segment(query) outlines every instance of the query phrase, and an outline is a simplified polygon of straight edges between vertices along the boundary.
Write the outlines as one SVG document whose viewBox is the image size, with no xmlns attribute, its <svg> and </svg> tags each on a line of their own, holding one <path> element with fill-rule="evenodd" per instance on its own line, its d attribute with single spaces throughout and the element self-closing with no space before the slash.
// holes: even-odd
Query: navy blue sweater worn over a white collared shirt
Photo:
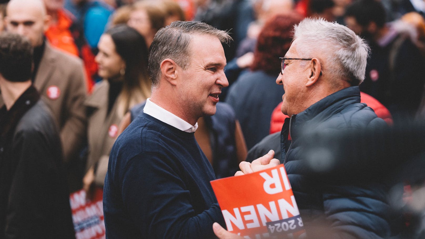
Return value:
<svg viewBox="0 0 425 239">
<path fill-rule="evenodd" d="M 193 133 L 140 114 L 113 145 L 105 178 L 107 238 L 210 238 L 224 219 L 214 172 Z"/>
</svg>

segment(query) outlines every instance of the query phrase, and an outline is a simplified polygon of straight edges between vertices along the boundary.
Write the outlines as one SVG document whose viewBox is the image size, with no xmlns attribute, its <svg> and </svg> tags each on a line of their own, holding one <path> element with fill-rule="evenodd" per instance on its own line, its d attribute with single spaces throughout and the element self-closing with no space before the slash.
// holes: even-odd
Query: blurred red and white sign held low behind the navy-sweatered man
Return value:
<svg viewBox="0 0 425 239">
<path fill-rule="evenodd" d="M 84 190 L 69 197 L 76 239 L 105 239 L 102 196 L 103 190 L 96 188 L 93 201 L 86 197 Z"/>
</svg>

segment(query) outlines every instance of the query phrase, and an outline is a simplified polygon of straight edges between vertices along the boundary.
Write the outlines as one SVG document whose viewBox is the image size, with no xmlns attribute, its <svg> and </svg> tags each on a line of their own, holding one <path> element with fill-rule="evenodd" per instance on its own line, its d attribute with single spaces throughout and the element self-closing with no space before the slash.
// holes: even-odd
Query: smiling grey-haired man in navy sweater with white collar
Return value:
<svg viewBox="0 0 425 239">
<path fill-rule="evenodd" d="M 212 223 L 224 225 L 210 185 L 214 171 L 194 132 L 199 117 L 215 114 L 228 85 L 221 43 L 230 39 L 200 22 L 176 21 L 155 35 L 152 95 L 109 158 L 107 238 L 212 238 Z"/>
</svg>

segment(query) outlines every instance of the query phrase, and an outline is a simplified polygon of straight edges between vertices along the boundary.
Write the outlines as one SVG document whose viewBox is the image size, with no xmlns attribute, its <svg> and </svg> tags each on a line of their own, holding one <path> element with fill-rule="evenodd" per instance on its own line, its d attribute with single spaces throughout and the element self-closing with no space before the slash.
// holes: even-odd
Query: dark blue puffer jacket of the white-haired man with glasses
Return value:
<svg viewBox="0 0 425 239">
<path fill-rule="evenodd" d="M 342 183 L 338 178 L 320 180 L 309 175 L 301 160 L 303 137 L 312 131 L 367 129 L 385 125 L 385 121 L 377 118 L 371 108 L 360 103 L 357 86 L 337 91 L 285 120 L 280 133 L 280 161 L 285 164 L 308 235 L 309 225 L 334 229 L 326 233 L 326 238 L 388 238 L 391 235 L 390 207 L 386 202 L 388 188 L 384 184 L 356 180 Z M 247 161 L 273 149 L 270 148 L 270 139 L 276 139 L 275 134 L 255 145 L 248 153 Z M 320 151 L 317 156 L 323 157 Z"/>
</svg>

